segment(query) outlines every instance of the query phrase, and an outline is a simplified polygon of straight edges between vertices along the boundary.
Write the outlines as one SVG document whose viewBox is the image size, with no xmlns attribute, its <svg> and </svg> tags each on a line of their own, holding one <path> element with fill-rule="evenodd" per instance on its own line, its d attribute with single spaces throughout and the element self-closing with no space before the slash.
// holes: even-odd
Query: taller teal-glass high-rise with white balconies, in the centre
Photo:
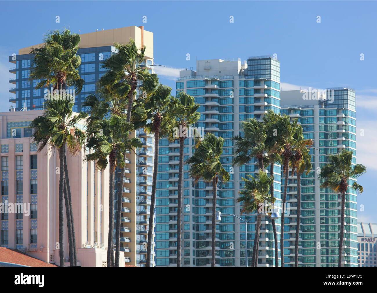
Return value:
<svg viewBox="0 0 377 293">
<path fill-rule="evenodd" d="M 257 162 L 252 160 L 241 167 L 232 166 L 234 147 L 232 137 L 241 134 L 240 122 L 246 118 L 261 119 L 267 110 L 280 113 L 279 61 L 271 56 L 249 57 L 247 62 L 234 60 L 200 60 L 196 71 L 180 71 L 176 79 L 177 93 L 184 91 L 200 104 L 201 118 L 196 127 L 223 137 L 221 163 L 230 173 L 230 181 L 219 182 L 217 209 L 222 213 L 240 215 L 236 202 L 241 177 L 255 174 Z M 200 133 L 201 131 L 199 131 Z M 156 265 L 175 266 L 177 253 L 177 196 L 179 141 L 160 139 L 156 191 Z M 185 140 L 184 160 L 193 155 L 194 138 Z M 210 266 L 212 185 L 199 182 L 193 186 L 189 166 L 184 166 L 182 200 L 182 265 Z M 274 168 L 274 196 L 280 209 L 280 166 Z M 255 215 L 255 214 L 254 214 Z M 250 217 L 250 216 L 249 216 Z M 249 218 L 248 217 L 248 218 Z M 245 265 L 245 245 L 248 239 L 248 263 L 251 264 L 256 217 L 251 218 L 248 231 L 244 222 L 233 216 L 222 216 L 216 224 L 216 265 Z M 280 239 L 280 219 L 276 221 Z M 260 266 L 274 266 L 274 244 L 271 220 L 262 216 L 259 244 Z"/>
</svg>

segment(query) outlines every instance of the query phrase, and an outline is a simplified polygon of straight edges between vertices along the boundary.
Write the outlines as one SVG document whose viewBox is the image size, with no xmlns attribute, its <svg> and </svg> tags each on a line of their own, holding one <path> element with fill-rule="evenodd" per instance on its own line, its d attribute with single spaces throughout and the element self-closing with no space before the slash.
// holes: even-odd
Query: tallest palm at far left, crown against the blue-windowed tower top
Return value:
<svg viewBox="0 0 377 293">
<path fill-rule="evenodd" d="M 78 73 L 78 67 L 81 65 L 81 58 L 77 55 L 81 37 L 79 34 L 71 34 L 68 29 L 52 31 L 44 38 L 44 45 L 40 48 L 33 48 L 31 54 L 34 54 L 33 66 L 30 72 L 30 80 L 40 79 L 36 89 L 44 86 L 53 86 L 53 89 L 66 90 L 67 86 L 72 86 L 76 93 L 80 93 L 84 80 Z M 63 97 L 67 98 L 67 96 Z M 74 99 L 75 97 L 70 97 Z M 66 159 L 64 159 L 66 162 Z M 67 168 L 66 163 L 64 167 Z M 66 202 L 69 203 L 69 214 L 67 214 L 67 225 L 72 227 L 68 233 L 72 238 L 74 247 L 74 265 L 77 266 L 76 239 L 74 231 L 74 218 L 70 198 L 70 186 L 68 173 L 64 176 L 64 184 L 67 189 L 64 192 Z M 71 260 L 70 260 L 71 261 Z M 71 264 L 72 265 L 72 264 Z"/>
</svg>

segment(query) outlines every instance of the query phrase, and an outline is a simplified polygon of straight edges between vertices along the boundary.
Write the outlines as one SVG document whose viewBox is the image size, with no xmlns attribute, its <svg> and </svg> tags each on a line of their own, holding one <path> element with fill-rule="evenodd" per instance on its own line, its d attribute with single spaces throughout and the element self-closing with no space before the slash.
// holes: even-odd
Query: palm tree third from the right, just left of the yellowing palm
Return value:
<svg viewBox="0 0 377 293">
<path fill-rule="evenodd" d="M 285 217 L 285 203 L 287 201 L 287 188 L 288 188 L 288 174 L 289 174 L 289 160 L 292 157 L 292 144 L 294 143 L 294 134 L 296 133 L 297 119 L 290 122 L 290 117 L 284 115 L 271 126 L 276 129 L 277 133 L 277 153 L 282 154 L 283 160 L 283 173 L 284 191 L 282 198 L 282 215 L 280 224 L 280 259 L 281 266 L 284 267 L 284 217 Z"/>
</svg>

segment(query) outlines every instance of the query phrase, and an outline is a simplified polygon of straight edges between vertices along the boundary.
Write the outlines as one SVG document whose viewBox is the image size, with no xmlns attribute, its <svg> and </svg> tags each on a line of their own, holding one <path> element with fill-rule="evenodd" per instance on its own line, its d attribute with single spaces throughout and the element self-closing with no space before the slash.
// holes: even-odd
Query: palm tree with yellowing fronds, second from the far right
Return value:
<svg viewBox="0 0 377 293">
<path fill-rule="evenodd" d="M 297 218 L 296 218 L 296 239 L 294 241 L 294 266 L 298 267 L 299 263 L 299 234 L 300 234 L 300 216 L 301 216 L 301 175 L 307 170 L 311 170 L 311 155 L 309 149 L 313 145 L 313 140 L 305 139 L 302 134 L 302 126 L 297 125 L 294 134 L 293 156 L 291 159 L 292 176 L 296 171 L 297 177 Z"/>
</svg>

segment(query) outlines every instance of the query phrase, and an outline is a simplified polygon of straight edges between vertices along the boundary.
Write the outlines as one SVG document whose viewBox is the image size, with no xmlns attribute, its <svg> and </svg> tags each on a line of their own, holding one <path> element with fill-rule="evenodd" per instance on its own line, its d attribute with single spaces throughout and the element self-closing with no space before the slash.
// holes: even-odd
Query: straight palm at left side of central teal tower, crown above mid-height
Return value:
<svg viewBox="0 0 377 293">
<path fill-rule="evenodd" d="M 172 99 L 170 108 L 172 109 L 172 119 L 168 120 L 171 131 L 169 140 L 179 139 L 179 174 L 178 174 L 178 209 L 177 209 L 177 267 L 181 266 L 181 221 L 182 221 L 182 190 L 183 190 L 183 149 L 185 139 L 189 137 L 189 128 L 199 120 L 200 113 L 196 112 L 199 104 L 195 99 L 181 92 L 177 98 Z"/>
</svg>

